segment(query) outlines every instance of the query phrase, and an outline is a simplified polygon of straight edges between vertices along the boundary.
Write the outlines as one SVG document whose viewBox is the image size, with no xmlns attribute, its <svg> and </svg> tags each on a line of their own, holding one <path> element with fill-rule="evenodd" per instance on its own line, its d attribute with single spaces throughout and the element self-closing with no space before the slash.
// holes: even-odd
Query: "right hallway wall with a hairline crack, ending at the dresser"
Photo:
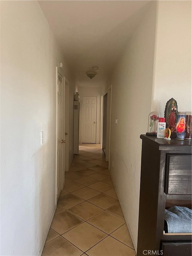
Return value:
<svg viewBox="0 0 192 256">
<path fill-rule="evenodd" d="M 110 173 L 135 249 L 140 194 L 140 134 L 146 133 L 151 109 L 155 19 L 156 3 L 152 1 L 128 42 L 111 80 Z M 118 124 L 115 124 L 116 118 Z"/>
</svg>

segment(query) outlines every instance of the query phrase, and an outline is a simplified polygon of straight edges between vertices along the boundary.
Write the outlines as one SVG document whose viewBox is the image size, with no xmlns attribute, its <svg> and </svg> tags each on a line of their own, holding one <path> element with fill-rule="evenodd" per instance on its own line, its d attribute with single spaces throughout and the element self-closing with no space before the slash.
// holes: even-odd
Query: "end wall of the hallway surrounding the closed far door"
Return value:
<svg viewBox="0 0 192 256">
<path fill-rule="evenodd" d="M 100 143 L 101 132 L 101 87 L 82 87 L 78 86 L 80 96 L 80 111 L 79 111 L 79 143 L 81 143 L 81 107 L 82 95 L 97 96 L 97 126 L 96 126 L 96 143 Z"/>
</svg>

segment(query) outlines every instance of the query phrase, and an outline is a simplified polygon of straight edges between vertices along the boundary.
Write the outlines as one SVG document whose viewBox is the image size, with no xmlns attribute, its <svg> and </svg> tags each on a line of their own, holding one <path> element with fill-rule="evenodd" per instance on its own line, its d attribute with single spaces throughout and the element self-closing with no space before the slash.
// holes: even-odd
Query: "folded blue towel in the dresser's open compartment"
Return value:
<svg viewBox="0 0 192 256">
<path fill-rule="evenodd" d="M 173 206 L 165 210 L 168 233 L 192 233 L 192 210 L 187 207 Z"/>
</svg>

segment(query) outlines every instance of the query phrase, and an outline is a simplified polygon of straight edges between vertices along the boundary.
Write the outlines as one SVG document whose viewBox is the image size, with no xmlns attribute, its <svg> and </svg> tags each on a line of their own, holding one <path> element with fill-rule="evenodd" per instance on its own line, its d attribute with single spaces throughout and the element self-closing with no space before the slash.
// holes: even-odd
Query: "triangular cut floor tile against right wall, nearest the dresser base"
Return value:
<svg viewBox="0 0 192 256">
<path fill-rule="evenodd" d="M 117 230 L 115 230 L 113 233 L 111 233 L 110 236 L 113 236 L 120 242 L 122 242 L 134 249 L 133 243 L 131 241 L 131 236 L 130 236 L 130 233 L 129 233 L 126 223 L 124 225 L 122 225 L 121 227 L 119 227 Z"/>
</svg>

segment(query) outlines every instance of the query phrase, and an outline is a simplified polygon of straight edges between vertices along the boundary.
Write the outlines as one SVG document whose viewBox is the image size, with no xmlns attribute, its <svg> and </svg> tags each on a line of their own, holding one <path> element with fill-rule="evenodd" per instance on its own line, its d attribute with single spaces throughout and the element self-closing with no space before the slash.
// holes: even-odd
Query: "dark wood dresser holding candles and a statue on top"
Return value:
<svg viewBox="0 0 192 256">
<path fill-rule="evenodd" d="M 191 256 L 191 233 L 164 233 L 165 209 L 174 205 L 191 209 L 191 140 L 140 138 L 137 256 Z"/>
</svg>

